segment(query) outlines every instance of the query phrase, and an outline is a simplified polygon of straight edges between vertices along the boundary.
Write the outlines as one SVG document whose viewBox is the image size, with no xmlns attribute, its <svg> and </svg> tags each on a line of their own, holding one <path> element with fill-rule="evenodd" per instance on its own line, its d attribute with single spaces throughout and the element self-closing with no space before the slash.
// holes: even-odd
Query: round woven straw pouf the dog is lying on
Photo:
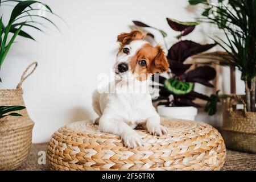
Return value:
<svg viewBox="0 0 256 182">
<path fill-rule="evenodd" d="M 203 122 L 164 119 L 163 137 L 137 130 L 142 146 L 127 148 L 117 135 L 100 133 L 92 121 L 61 127 L 49 141 L 52 170 L 220 170 L 226 148 L 220 133 Z"/>
</svg>

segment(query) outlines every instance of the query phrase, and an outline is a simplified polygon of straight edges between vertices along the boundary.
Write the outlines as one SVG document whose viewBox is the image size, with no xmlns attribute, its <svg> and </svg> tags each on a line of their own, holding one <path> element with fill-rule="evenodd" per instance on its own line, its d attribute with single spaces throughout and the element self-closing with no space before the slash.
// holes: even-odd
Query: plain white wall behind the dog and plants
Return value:
<svg viewBox="0 0 256 182">
<path fill-rule="evenodd" d="M 46 34 L 28 29 L 36 42 L 18 38 L 2 65 L 1 88 L 15 88 L 24 69 L 38 61 L 38 69 L 23 84 L 24 101 L 35 122 L 33 141 L 47 142 L 59 127 L 82 119 L 96 117 L 91 106 L 91 94 L 99 73 L 109 73 L 115 60 L 117 35 L 129 31 L 131 20 L 141 20 L 162 28 L 174 43 L 174 35 L 166 17 L 194 20 L 197 16 L 187 0 L 43 0 L 59 18 L 52 17 L 61 29 L 53 26 Z M 5 20 L 9 7 L 2 7 Z M 8 16 L 8 17 L 7 17 Z M 50 16 L 47 14 L 47 18 Z M 209 43 L 207 35 L 214 34 L 207 24 L 201 24 L 187 39 Z M 212 49 L 214 51 L 214 49 Z"/>
</svg>

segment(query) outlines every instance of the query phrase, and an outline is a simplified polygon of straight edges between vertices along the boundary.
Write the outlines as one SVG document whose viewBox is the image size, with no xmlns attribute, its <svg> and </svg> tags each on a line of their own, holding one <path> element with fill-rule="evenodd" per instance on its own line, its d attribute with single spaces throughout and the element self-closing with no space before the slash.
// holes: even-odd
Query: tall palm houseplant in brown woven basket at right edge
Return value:
<svg viewBox="0 0 256 182">
<path fill-rule="evenodd" d="M 213 38 L 228 56 L 220 64 L 236 67 L 245 82 L 245 96 L 239 98 L 243 110 L 230 107 L 223 123 L 226 146 L 236 150 L 256 152 L 256 1 L 232 0 L 210 3 L 206 0 L 189 0 L 191 5 L 203 4 L 201 18 L 216 24 L 226 39 Z"/>
</svg>

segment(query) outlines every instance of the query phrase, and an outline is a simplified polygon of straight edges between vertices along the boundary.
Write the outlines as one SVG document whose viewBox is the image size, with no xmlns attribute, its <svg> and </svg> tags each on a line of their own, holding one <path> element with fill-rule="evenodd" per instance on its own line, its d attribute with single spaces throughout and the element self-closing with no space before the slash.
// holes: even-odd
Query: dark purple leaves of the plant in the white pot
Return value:
<svg viewBox="0 0 256 182">
<path fill-rule="evenodd" d="M 180 35 L 177 36 L 177 38 L 188 35 L 195 29 L 195 24 L 191 22 L 188 22 L 186 25 L 184 24 L 184 22 L 179 22 L 177 20 L 173 21 L 168 18 L 167 22 L 173 30 L 181 32 Z M 133 23 L 139 27 L 151 27 L 139 21 L 133 21 Z M 154 35 L 148 35 L 154 38 Z M 207 51 L 214 46 L 216 46 L 216 44 L 201 45 L 191 40 L 180 40 L 179 42 L 174 44 L 168 50 L 167 55 L 167 59 L 171 69 L 170 78 L 180 81 L 197 82 L 205 86 L 213 87 L 213 85 L 210 84 L 209 81 L 213 80 L 213 78 L 216 76 L 216 71 L 212 67 L 203 66 L 188 71 L 192 64 L 184 64 L 184 61 L 188 57 L 196 55 L 197 53 Z M 167 78 L 160 75 L 157 76 L 159 76 L 159 79 L 156 80 L 153 76 L 152 81 L 164 84 L 164 81 Z M 200 105 L 193 102 L 194 100 L 196 100 L 196 98 L 200 98 L 201 100 L 205 101 L 211 100 L 210 97 L 201 93 L 197 93 L 193 90 L 187 94 L 173 94 L 173 101 L 169 100 L 170 95 L 171 92 L 164 88 L 164 86 L 159 86 L 159 98 L 156 99 L 157 101 L 160 101 L 158 105 L 201 107 Z"/>
</svg>

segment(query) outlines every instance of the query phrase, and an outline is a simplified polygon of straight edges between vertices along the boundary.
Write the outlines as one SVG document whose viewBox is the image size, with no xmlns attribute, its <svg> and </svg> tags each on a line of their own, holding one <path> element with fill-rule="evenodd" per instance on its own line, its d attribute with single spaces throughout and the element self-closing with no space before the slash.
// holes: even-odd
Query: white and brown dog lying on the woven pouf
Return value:
<svg viewBox="0 0 256 182">
<path fill-rule="evenodd" d="M 117 77 L 113 81 L 114 86 L 109 93 L 93 92 L 92 105 L 99 116 L 96 121 L 100 131 L 121 136 L 129 148 L 142 146 L 142 139 L 134 129 L 146 129 L 158 136 L 167 134 L 166 127 L 160 125 L 160 116 L 152 105 L 150 93 L 138 93 L 132 89 L 127 93 L 118 92 L 123 88 L 129 90 L 147 86 L 148 75 L 168 70 L 169 64 L 162 47 L 152 46 L 144 40 L 145 36 L 141 30 L 118 35 L 120 47 L 113 67 Z"/>
</svg>

